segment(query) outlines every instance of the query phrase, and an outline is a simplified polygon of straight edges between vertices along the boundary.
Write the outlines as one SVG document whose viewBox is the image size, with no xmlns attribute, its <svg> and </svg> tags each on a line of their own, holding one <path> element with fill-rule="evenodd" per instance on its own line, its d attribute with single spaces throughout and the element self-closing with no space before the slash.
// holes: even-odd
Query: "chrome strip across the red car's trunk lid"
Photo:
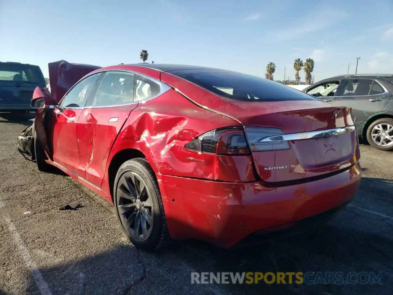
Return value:
<svg viewBox="0 0 393 295">
<path fill-rule="evenodd" d="M 292 134 L 274 135 L 261 139 L 259 142 L 277 142 L 277 141 L 288 141 L 288 140 L 303 140 L 318 137 L 328 137 L 334 135 L 340 135 L 355 131 L 354 125 L 348 127 L 339 127 L 334 129 L 320 130 L 320 131 L 309 131 Z"/>
</svg>

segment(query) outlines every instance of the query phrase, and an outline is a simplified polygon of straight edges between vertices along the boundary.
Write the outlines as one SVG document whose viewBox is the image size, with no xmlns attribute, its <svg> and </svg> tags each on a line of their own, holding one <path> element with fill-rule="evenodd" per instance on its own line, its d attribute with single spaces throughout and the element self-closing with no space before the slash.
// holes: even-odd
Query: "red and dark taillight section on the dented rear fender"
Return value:
<svg viewBox="0 0 393 295">
<path fill-rule="evenodd" d="M 188 144 L 187 149 L 219 155 L 246 155 L 250 153 L 242 129 L 216 129 L 206 132 Z"/>
</svg>

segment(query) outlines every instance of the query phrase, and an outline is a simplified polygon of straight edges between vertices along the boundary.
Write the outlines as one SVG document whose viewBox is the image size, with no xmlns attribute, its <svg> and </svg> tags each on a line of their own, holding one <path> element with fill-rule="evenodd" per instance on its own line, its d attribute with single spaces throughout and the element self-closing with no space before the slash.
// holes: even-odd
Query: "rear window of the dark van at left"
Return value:
<svg viewBox="0 0 393 295">
<path fill-rule="evenodd" d="M 0 63 L 0 81 L 25 81 L 42 83 L 42 76 L 39 66 L 25 65 L 18 63 Z"/>
</svg>

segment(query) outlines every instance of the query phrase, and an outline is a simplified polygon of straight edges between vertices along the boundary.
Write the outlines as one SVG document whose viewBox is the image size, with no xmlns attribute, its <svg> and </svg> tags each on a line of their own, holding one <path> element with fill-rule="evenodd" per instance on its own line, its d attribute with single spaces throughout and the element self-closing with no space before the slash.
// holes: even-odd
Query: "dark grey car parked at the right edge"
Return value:
<svg viewBox="0 0 393 295">
<path fill-rule="evenodd" d="M 393 75 L 342 75 L 303 92 L 337 107 L 351 107 L 358 135 L 380 150 L 393 150 Z"/>
</svg>

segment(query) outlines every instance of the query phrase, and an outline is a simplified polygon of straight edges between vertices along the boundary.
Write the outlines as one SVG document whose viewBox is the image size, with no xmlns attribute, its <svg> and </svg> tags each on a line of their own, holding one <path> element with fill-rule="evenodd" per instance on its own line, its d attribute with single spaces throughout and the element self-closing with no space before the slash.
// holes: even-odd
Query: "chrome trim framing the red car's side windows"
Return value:
<svg viewBox="0 0 393 295">
<path fill-rule="evenodd" d="M 171 89 L 171 87 L 169 87 L 169 85 L 163 83 L 162 81 L 160 81 L 160 80 L 158 80 L 158 79 L 156 79 L 156 78 L 153 78 L 153 77 L 151 77 L 151 76 L 147 76 L 147 75 L 145 75 L 145 74 L 140 74 L 140 73 L 138 73 L 138 72 L 134 72 L 134 71 L 131 71 L 131 70 L 125 70 L 125 69 L 118 69 L 118 70 L 116 70 L 116 69 L 110 69 L 110 70 L 102 70 L 102 71 L 100 71 L 100 72 L 95 72 L 94 74 L 98 74 L 98 73 L 102 73 L 102 72 L 128 72 L 128 73 L 131 73 L 131 74 L 139 75 L 139 76 L 141 76 L 141 77 L 144 77 L 144 78 L 146 78 L 146 79 L 149 79 L 150 81 L 152 81 L 152 82 L 158 84 L 158 85 L 160 86 L 160 92 L 159 92 L 157 95 L 154 95 L 154 96 L 145 98 L 145 99 L 143 99 L 143 100 L 132 101 L 132 102 L 129 102 L 129 103 L 121 103 L 121 104 L 116 104 L 116 105 L 97 105 L 97 106 L 87 105 L 86 107 L 83 106 L 83 107 L 61 107 L 61 108 L 62 108 L 62 109 L 97 109 L 97 108 L 103 108 L 103 107 L 107 108 L 107 107 L 121 107 L 121 106 L 124 106 L 124 105 L 134 105 L 134 104 L 137 104 L 137 103 L 145 103 L 146 101 L 153 100 L 154 98 L 156 98 L 156 97 L 158 97 L 158 96 L 164 94 L 165 92 L 167 92 L 168 90 Z M 94 75 L 94 74 L 92 73 L 92 75 Z M 91 75 L 89 75 L 89 76 L 91 76 Z M 87 77 L 89 77 L 89 76 L 87 76 Z M 86 79 L 87 77 L 85 77 L 85 79 Z M 74 86 L 75 86 L 75 85 L 74 85 Z M 73 88 L 73 87 L 72 87 L 72 88 Z M 71 89 L 70 89 L 70 90 L 71 90 Z M 70 90 L 68 90 L 68 91 L 70 91 Z M 68 94 L 68 92 L 67 92 L 64 96 L 66 96 L 67 94 Z M 64 97 L 63 97 L 63 98 L 64 98 Z"/>
</svg>

